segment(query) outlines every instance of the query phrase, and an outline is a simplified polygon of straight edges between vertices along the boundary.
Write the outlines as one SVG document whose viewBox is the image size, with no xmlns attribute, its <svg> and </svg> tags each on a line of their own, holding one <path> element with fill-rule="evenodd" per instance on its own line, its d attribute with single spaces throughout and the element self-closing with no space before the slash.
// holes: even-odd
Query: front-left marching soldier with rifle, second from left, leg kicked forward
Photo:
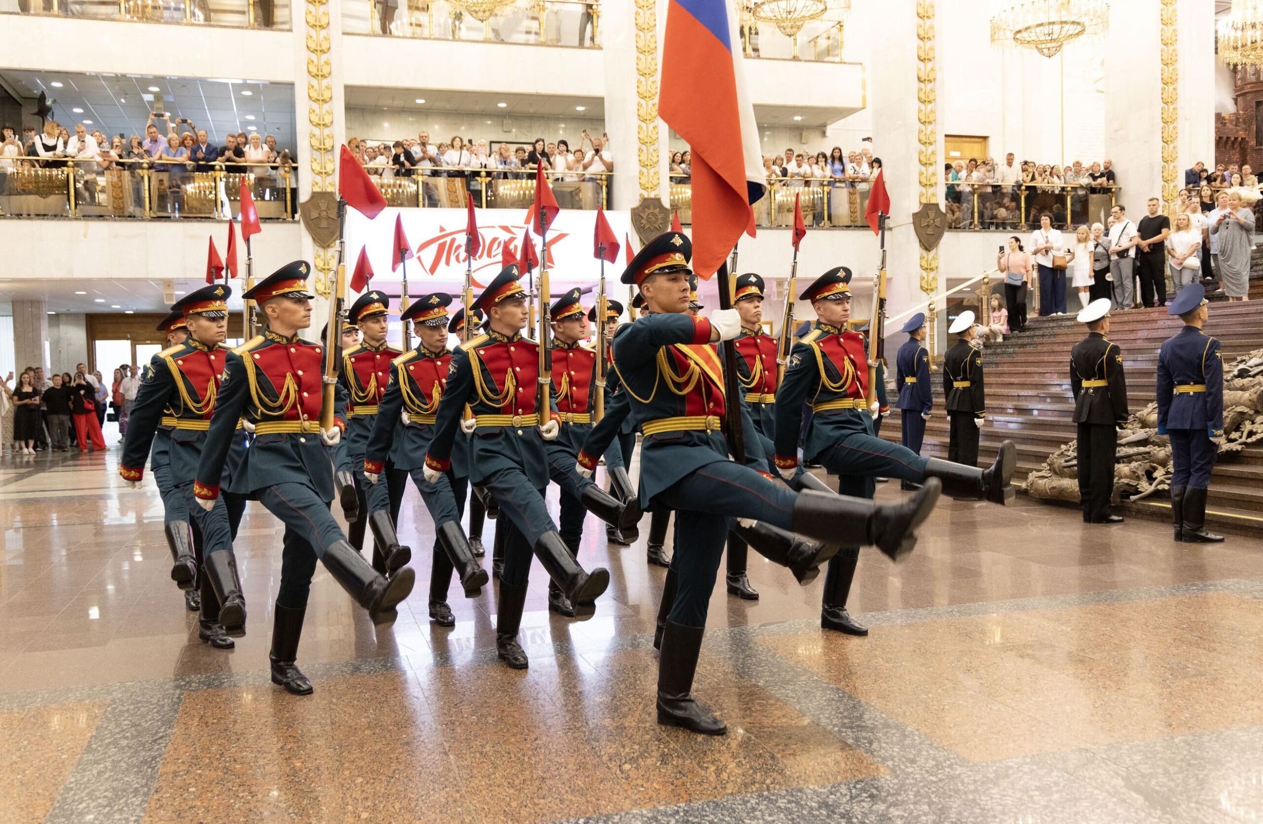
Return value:
<svg viewBox="0 0 1263 824">
<path fill-rule="evenodd" d="M 272 682 L 296 695 L 312 691 L 294 662 L 317 560 L 374 622 L 393 619 L 395 604 L 408 597 L 414 581 L 407 566 L 389 580 L 374 570 L 347 543 L 330 512 L 333 473 L 325 449 L 341 441 L 344 404 L 335 403 L 335 426 L 322 431 L 325 346 L 298 336 L 311 326 L 309 272 L 311 264 L 296 260 L 244 294 L 258 305 L 264 330 L 227 353 L 193 484 L 202 508 L 215 506 L 232 431 L 245 416 L 254 426 L 254 441 L 226 489 L 260 500 L 285 524 L 269 657 Z"/>
</svg>

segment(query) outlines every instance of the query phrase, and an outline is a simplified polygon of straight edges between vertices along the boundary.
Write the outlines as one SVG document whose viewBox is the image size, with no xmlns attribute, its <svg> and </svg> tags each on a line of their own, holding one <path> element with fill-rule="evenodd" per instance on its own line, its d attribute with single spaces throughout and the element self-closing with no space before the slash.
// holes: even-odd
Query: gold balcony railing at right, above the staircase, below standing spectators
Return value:
<svg viewBox="0 0 1263 824">
<path fill-rule="evenodd" d="M 1122 191 L 1119 186 L 1087 183 L 966 183 L 946 185 L 949 229 L 1026 230 L 1052 216 L 1058 229 L 1105 225 Z"/>
</svg>

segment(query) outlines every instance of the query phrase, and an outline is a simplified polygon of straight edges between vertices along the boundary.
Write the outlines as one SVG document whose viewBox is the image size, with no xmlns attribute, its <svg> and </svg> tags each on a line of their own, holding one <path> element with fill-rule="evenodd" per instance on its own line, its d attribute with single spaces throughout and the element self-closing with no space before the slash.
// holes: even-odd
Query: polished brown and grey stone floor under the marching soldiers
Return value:
<svg viewBox="0 0 1263 824">
<path fill-rule="evenodd" d="M 248 509 L 249 634 L 212 651 L 168 579 L 157 490 L 116 468 L 116 449 L 0 461 L 0 824 L 1263 816 L 1257 540 L 945 500 L 908 562 L 863 556 L 868 638 L 818 628 L 820 581 L 751 561 L 760 600 L 711 602 L 695 693 L 730 733 L 701 738 L 654 723 L 643 537 L 608 548 L 589 519 L 582 561 L 613 579 L 590 621 L 551 615 L 534 567 L 514 672 L 490 588 L 453 591 L 455 628 L 428 622 L 409 490 L 417 589 L 375 629 L 320 570 L 316 693 L 294 698 L 266 670 L 277 522 Z"/>
</svg>

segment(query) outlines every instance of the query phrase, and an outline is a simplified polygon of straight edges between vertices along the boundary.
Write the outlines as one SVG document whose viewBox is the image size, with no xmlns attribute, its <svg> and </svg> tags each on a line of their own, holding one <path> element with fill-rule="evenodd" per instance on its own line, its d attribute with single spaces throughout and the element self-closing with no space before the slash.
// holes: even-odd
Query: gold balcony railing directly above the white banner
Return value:
<svg viewBox="0 0 1263 824">
<path fill-rule="evenodd" d="M 609 207 L 613 172 L 546 172 L 562 209 Z M 410 177 L 373 174 L 389 206 L 465 209 L 465 192 L 480 209 L 528 209 L 536 198 L 536 173 L 518 169 L 426 167 Z"/>
</svg>

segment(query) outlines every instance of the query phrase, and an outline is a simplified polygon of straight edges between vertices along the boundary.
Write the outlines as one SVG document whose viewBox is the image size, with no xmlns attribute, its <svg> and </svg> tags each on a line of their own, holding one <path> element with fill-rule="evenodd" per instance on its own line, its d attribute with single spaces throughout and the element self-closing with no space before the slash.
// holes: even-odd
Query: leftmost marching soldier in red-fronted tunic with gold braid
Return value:
<svg viewBox="0 0 1263 824">
<path fill-rule="evenodd" d="M 144 478 L 145 455 L 153 442 L 154 475 L 178 497 L 168 507 L 168 541 L 174 565 L 171 576 L 181 589 L 201 588 L 197 637 L 221 650 L 235 642 L 229 633 L 245 631 L 245 599 L 237 578 L 231 536 L 236 535 L 245 512 L 242 495 L 225 495 L 210 512 L 192 506 L 197 464 L 207 444 L 207 431 L 215 412 L 220 379 L 227 349 L 227 300 L 232 289 L 212 284 L 186 294 L 174 306 L 184 318 L 184 342 L 164 349 L 149 363 L 144 383 L 136 392 L 131 426 L 123 444 L 119 474 L 133 487 Z M 225 433 L 230 454 L 225 476 L 245 456 L 245 436 L 240 423 Z M 160 457 L 159 457 L 160 450 Z M 165 493 L 164 493 L 165 498 Z M 189 523 L 188 513 L 195 518 Z M 192 536 L 192 546 L 189 546 Z M 198 583 L 200 580 L 200 583 Z"/>
</svg>

